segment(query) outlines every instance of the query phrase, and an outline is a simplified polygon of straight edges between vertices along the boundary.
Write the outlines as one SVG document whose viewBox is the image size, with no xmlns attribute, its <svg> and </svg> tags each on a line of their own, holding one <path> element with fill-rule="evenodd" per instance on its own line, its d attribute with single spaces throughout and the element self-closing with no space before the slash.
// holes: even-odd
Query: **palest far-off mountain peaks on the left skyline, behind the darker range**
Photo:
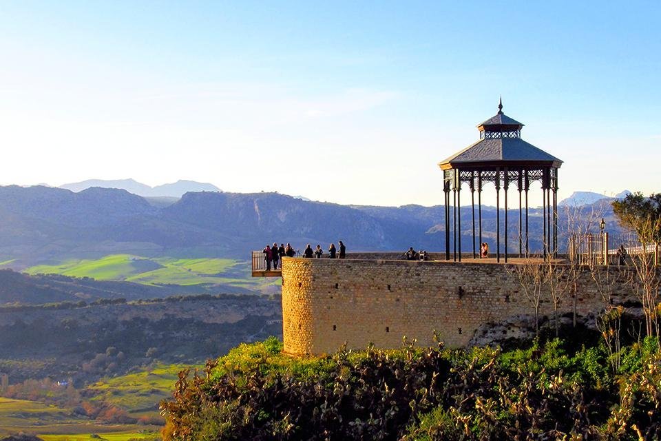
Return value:
<svg viewBox="0 0 661 441">
<path fill-rule="evenodd" d="M 149 185 L 139 183 L 134 179 L 119 179 L 116 181 L 89 179 L 87 181 L 60 185 L 60 188 L 68 189 L 72 192 L 81 192 L 91 187 L 124 189 L 129 193 L 150 198 L 180 198 L 187 192 L 220 192 L 220 189 L 216 187 L 216 185 L 185 180 L 179 180 L 170 184 L 156 185 L 156 187 L 150 187 Z"/>
</svg>

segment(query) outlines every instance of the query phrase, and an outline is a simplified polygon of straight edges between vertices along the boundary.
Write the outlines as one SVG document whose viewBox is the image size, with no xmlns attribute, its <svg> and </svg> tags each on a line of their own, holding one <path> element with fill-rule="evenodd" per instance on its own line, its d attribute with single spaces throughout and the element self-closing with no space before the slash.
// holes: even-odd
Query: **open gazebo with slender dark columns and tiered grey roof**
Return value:
<svg viewBox="0 0 661 441">
<path fill-rule="evenodd" d="M 518 190 L 518 256 L 529 254 L 528 191 L 534 181 L 541 182 L 543 206 L 543 256 L 558 254 L 558 169 L 563 161 L 521 139 L 523 124 L 503 113 L 503 100 L 498 113 L 477 126 L 480 140 L 441 161 L 445 194 L 445 258 L 450 260 L 450 219 L 452 218 L 452 256 L 461 261 L 461 187 L 468 184 L 472 205 L 472 255 L 476 257 L 475 240 L 482 243 L 482 189 L 485 183 L 496 187 L 496 261 L 501 261 L 501 188 L 504 196 L 504 258 L 510 256 L 507 240 L 507 189 Z M 452 192 L 452 216 L 450 216 Z M 476 236 L 475 192 L 478 221 Z M 522 201 L 523 199 L 525 202 Z M 525 224 L 524 214 L 525 213 Z M 478 248 L 479 249 L 479 248 Z"/>
</svg>

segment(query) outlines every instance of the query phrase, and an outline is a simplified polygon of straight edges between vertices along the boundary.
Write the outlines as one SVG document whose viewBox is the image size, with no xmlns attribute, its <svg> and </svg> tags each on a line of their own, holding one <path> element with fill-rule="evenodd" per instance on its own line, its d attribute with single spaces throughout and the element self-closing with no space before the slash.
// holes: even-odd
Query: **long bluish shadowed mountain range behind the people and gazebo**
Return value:
<svg viewBox="0 0 661 441">
<path fill-rule="evenodd" d="M 604 200 L 607 201 L 607 200 Z M 618 227 L 610 204 L 603 216 Z M 539 246 L 541 209 L 530 209 L 532 249 Z M 461 207 L 463 249 L 472 249 L 470 207 Z M 483 240 L 495 245 L 496 209 L 483 207 Z M 501 231 L 503 231 L 501 213 Z M 563 227 L 560 212 L 559 231 Z M 518 241 L 518 210 L 510 211 L 510 244 Z M 114 253 L 248 259 L 267 243 L 344 240 L 349 251 L 438 251 L 445 246 L 442 205 L 375 207 L 305 201 L 277 193 L 188 192 L 154 205 L 125 189 L 0 187 L 0 263 L 22 269 L 48 260 Z M 513 245 L 510 245 L 514 248 Z"/>
</svg>

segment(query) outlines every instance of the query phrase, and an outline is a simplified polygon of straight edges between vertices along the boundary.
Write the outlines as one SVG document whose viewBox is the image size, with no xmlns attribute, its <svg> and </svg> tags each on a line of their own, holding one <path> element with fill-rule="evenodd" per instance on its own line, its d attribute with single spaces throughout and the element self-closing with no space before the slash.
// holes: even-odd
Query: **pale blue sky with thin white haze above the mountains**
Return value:
<svg viewBox="0 0 661 441">
<path fill-rule="evenodd" d="M 4 0 L 0 185 L 438 205 L 437 163 L 502 95 L 565 161 L 560 198 L 660 192 L 660 22 L 658 0 Z"/>
</svg>

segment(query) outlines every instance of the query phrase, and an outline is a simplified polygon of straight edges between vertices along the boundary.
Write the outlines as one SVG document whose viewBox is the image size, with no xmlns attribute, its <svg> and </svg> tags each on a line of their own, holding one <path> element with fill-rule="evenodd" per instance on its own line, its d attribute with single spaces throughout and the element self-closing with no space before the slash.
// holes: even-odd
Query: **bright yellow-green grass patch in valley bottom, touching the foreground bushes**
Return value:
<svg viewBox="0 0 661 441">
<path fill-rule="evenodd" d="M 95 393 L 93 400 L 112 403 L 135 418 L 157 416 L 158 403 L 172 396 L 179 371 L 187 367 L 189 366 L 159 365 L 149 371 L 103 378 L 87 389 Z"/>
</svg>

